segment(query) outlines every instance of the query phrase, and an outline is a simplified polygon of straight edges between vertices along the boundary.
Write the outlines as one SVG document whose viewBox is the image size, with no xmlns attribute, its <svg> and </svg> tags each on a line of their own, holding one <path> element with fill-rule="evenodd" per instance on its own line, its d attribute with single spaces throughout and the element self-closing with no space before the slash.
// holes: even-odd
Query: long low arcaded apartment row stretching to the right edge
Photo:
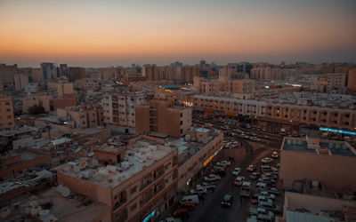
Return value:
<svg viewBox="0 0 356 222">
<path fill-rule="evenodd" d="M 207 95 L 194 95 L 188 97 L 194 109 L 206 113 L 223 113 L 225 115 L 249 115 L 256 120 L 270 122 L 305 123 L 315 126 L 344 129 L 353 131 L 356 128 L 356 112 L 353 107 L 355 99 L 351 97 L 329 97 L 321 95 L 312 103 L 312 99 L 300 99 L 299 94 L 289 94 L 293 97 L 279 99 L 279 102 L 266 102 L 249 99 L 233 99 Z M 298 98 L 298 99 L 295 99 Z M 340 104 L 337 105 L 337 99 Z M 303 103 L 304 101 L 304 103 Z M 330 105 L 331 104 L 331 105 Z M 339 106 L 339 107 L 336 107 Z"/>
</svg>

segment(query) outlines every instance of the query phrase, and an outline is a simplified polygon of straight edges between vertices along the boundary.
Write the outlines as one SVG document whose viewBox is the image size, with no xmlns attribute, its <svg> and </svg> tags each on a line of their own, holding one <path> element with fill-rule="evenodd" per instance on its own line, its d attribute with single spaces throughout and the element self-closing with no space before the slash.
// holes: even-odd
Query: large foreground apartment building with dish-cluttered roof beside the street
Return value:
<svg viewBox="0 0 356 222">
<path fill-rule="evenodd" d="M 140 136 L 126 145 L 120 163 L 105 167 L 93 158 L 77 159 L 59 166 L 57 178 L 71 191 L 109 206 L 110 221 L 141 222 L 173 204 L 178 151 Z"/>
</svg>

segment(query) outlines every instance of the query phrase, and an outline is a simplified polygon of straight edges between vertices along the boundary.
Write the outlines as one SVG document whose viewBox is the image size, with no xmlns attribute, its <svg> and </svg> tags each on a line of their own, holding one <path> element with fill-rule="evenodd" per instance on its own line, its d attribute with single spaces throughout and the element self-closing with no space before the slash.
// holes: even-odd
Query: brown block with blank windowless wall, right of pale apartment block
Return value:
<svg viewBox="0 0 356 222">
<path fill-rule="evenodd" d="M 175 138 L 185 134 L 191 125 L 191 107 L 182 107 L 172 100 L 150 100 L 136 106 L 136 133 L 158 132 Z"/>
</svg>

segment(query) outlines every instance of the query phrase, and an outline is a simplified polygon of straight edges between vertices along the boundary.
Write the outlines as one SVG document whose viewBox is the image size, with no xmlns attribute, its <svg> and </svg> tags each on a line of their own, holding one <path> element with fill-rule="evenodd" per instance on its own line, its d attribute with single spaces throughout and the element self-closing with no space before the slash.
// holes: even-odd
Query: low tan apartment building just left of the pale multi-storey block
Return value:
<svg viewBox="0 0 356 222">
<path fill-rule="evenodd" d="M 57 108 L 57 117 L 73 128 L 91 128 L 103 124 L 102 108 L 98 104 Z"/>
</svg>

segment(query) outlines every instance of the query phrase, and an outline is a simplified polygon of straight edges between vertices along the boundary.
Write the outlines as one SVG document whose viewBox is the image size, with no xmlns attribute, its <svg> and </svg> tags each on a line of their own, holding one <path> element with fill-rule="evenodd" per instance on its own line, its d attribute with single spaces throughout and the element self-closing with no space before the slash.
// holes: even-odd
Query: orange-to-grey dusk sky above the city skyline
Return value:
<svg viewBox="0 0 356 222">
<path fill-rule="evenodd" d="M 0 63 L 356 62 L 355 0 L 0 0 Z"/>
</svg>

